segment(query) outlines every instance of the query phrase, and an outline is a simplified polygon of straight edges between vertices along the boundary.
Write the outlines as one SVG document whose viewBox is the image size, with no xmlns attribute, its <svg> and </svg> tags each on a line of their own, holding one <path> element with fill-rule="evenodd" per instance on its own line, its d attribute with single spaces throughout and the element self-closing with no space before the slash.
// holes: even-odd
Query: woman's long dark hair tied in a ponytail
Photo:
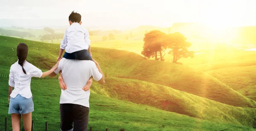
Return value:
<svg viewBox="0 0 256 131">
<path fill-rule="evenodd" d="M 23 63 L 26 61 L 26 57 L 28 56 L 29 48 L 26 44 L 20 43 L 17 46 L 17 56 L 18 56 L 18 63 L 22 67 L 23 72 L 26 74 L 26 70 L 23 68 Z"/>
</svg>

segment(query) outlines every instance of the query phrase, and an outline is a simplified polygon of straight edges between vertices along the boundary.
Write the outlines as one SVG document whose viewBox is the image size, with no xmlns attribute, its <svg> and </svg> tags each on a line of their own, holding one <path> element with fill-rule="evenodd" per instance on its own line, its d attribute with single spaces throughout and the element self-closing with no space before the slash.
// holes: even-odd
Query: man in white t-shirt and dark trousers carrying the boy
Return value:
<svg viewBox="0 0 256 131">
<path fill-rule="evenodd" d="M 91 76 L 99 84 L 105 84 L 99 63 L 95 60 L 62 58 L 58 68 L 49 77 L 56 76 L 60 71 L 62 71 L 62 77 L 67 86 L 66 89 L 61 89 L 61 131 L 87 131 L 90 89 L 82 88 Z"/>
</svg>

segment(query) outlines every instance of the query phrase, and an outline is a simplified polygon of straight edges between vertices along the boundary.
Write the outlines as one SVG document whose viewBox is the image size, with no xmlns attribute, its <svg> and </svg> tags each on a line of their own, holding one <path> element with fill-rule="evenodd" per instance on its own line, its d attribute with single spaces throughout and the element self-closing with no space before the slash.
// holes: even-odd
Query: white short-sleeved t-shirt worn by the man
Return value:
<svg viewBox="0 0 256 131">
<path fill-rule="evenodd" d="M 96 81 L 102 78 L 96 64 L 93 61 L 62 58 L 54 72 L 58 74 L 60 71 L 62 71 L 61 75 L 67 86 L 66 90 L 61 89 L 60 103 L 90 107 L 90 89 L 85 92 L 82 88 L 91 76 Z"/>
</svg>

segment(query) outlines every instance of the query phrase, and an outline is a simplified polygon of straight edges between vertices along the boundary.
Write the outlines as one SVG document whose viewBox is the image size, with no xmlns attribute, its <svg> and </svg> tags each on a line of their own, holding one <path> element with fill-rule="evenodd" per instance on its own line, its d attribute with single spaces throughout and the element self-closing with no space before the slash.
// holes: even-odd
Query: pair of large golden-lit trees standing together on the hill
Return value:
<svg viewBox="0 0 256 131">
<path fill-rule="evenodd" d="M 182 33 L 163 33 L 161 31 L 150 31 L 145 34 L 144 45 L 142 55 L 146 59 L 155 58 L 155 60 L 164 61 L 163 57 L 166 55 L 166 50 L 170 50 L 168 53 L 173 54 L 173 63 L 177 63 L 177 60 L 184 57 L 194 57 L 193 51 L 189 51 L 187 48 L 192 44 L 186 41 L 186 37 Z"/>
</svg>

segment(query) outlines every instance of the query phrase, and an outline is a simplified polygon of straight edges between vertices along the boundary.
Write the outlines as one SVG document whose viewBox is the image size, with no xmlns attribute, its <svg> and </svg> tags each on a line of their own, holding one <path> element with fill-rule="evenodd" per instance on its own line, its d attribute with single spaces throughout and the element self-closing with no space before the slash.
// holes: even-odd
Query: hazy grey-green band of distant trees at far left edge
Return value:
<svg viewBox="0 0 256 131">
<path fill-rule="evenodd" d="M 29 32 L 5 30 L 2 28 L 0 28 L 0 34 L 2 36 L 35 37 L 35 35 L 33 35 L 32 33 L 29 33 Z"/>
</svg>

